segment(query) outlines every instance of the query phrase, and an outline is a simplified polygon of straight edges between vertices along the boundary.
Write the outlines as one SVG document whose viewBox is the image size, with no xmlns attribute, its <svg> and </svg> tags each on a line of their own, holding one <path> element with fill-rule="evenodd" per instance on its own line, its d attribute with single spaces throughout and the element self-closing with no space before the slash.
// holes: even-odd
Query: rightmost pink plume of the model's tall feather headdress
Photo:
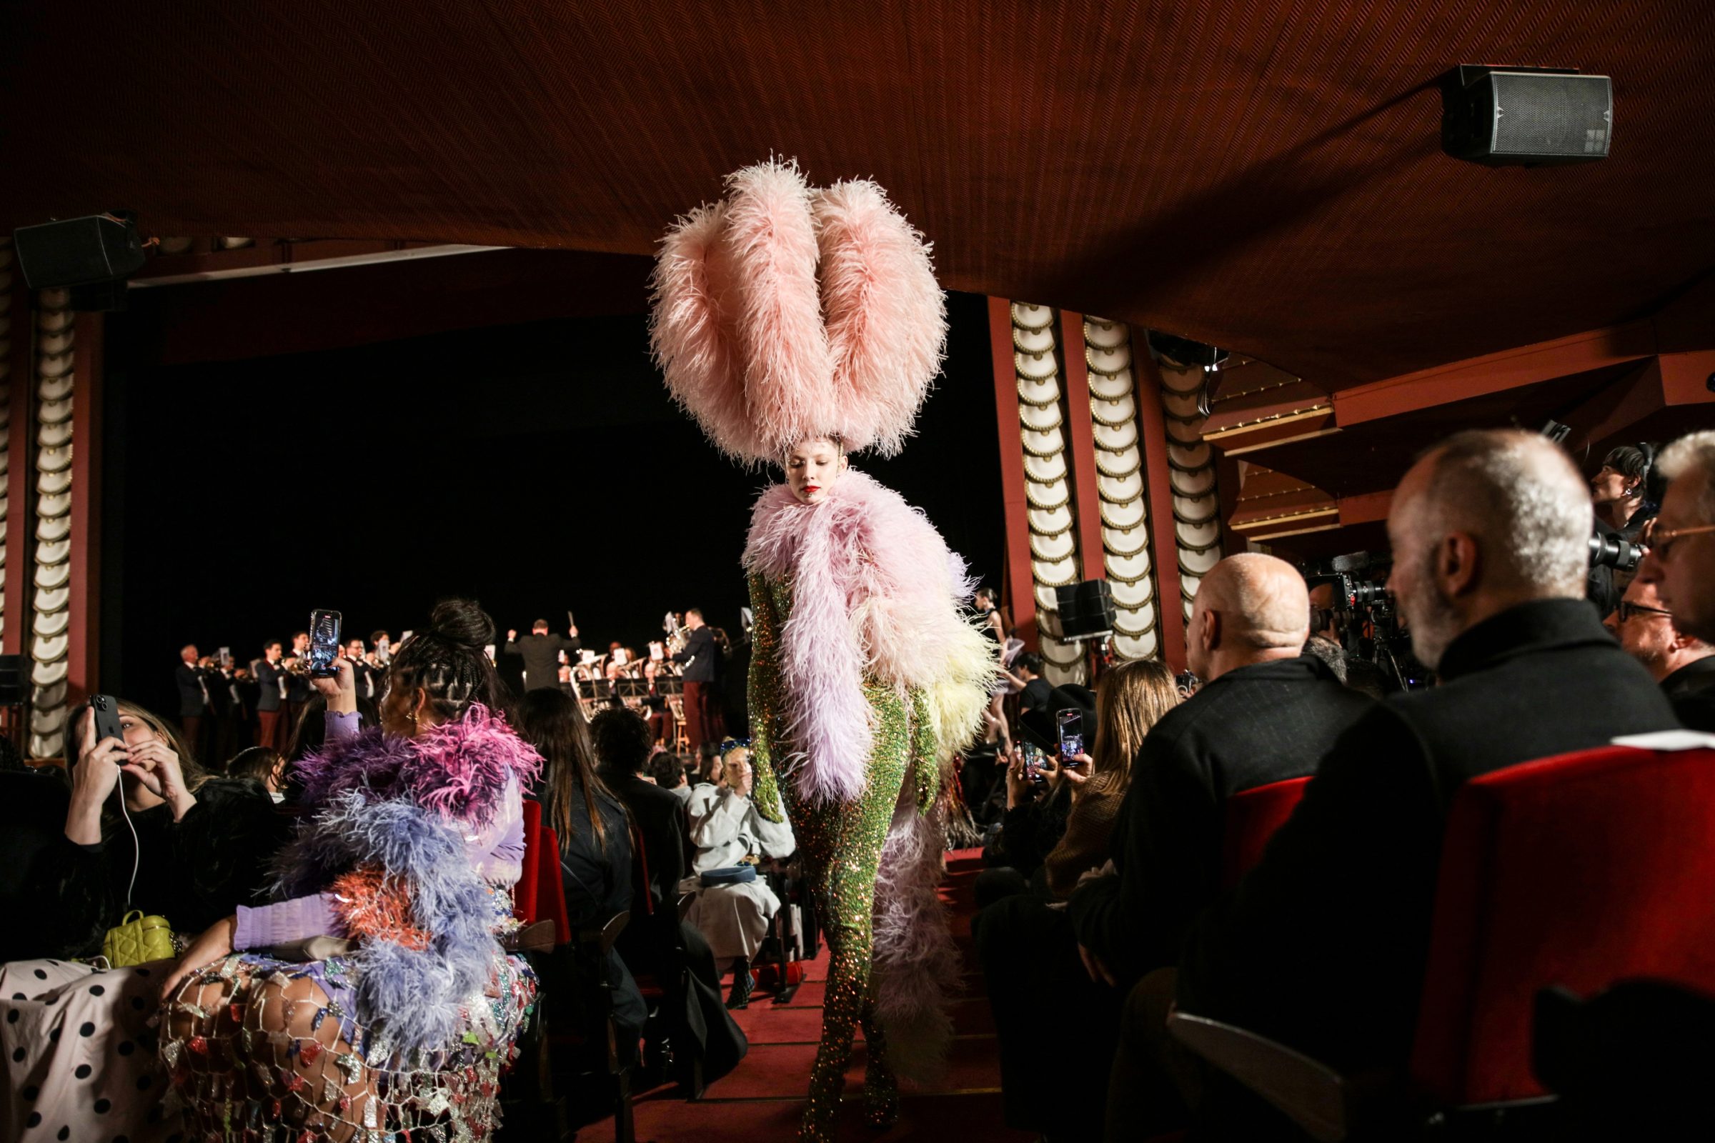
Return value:
<svg viewBox="0 0 1715 1143">
<path fill-rule="evenodd" d="M 849 447 L 894 456 L 912 434 L 947 341 L 930 247 L 868 180 L 818 190 L 813 209 L 835 423 Z"/>
</svg>

